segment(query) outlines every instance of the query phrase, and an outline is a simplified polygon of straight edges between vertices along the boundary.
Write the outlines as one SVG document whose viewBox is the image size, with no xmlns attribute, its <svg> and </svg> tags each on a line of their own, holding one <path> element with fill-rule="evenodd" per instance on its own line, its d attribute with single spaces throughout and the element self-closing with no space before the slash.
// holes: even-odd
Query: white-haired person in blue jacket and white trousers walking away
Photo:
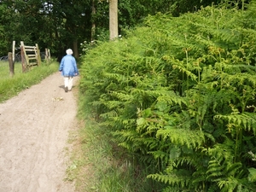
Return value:
<svg viewBox="0 0 256 192">
<path fill-rule="evenodd" d="M 77 62 L 73 57 L 73 50 L 67 49 L 67 55 L 61 59 L 61 64 L 59 72 L 64 77 L 64 87 L 65 92 L 72 90 L 73 87 L 73 77 L 79 75 L 79 70 L 77 67 Z"/>
</svg>

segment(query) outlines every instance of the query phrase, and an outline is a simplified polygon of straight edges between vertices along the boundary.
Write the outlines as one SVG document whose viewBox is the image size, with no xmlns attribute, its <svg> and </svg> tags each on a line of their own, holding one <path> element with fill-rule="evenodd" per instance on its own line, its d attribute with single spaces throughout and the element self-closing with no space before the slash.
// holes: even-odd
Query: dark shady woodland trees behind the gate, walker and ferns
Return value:
<svg viewBox="0 0 256 192">
<path fill-rule="evenodd" d="M 7 55 L 12 42 L 39 44 L 59 59 L 67 48 L 79 57 L 80 44 L 109 38 L 109 3 L 106 0 L 2 0 L 0 1 L 0 56 Z M 157 12 L 178 16 L 202 5 L 221 0 L 119 0 L 119 35 Z"/>
</svg>

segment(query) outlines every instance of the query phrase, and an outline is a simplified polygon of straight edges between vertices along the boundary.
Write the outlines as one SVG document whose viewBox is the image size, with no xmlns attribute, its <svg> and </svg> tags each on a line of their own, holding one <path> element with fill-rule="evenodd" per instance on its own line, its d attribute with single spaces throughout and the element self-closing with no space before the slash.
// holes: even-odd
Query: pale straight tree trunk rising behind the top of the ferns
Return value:
<svg viewBox="0 0 256 192">
<path fill-rule="evenodd" d="M 118 0 L 109 0 L 109 39 L 118 38 Z"/>
</svg>

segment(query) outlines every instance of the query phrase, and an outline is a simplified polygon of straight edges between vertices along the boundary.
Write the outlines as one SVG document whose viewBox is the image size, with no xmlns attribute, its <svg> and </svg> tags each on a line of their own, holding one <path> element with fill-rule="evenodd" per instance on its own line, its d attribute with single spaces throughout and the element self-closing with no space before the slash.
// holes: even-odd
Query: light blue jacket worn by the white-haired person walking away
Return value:
<svg viewBox="0 0 256 192">
<path fill-rule="evenodd" d="M 75 76 L 75 73 L 77 73 L 77 75 L 79 74 L 77 62 L 73 57 L 73 55 L 65 55 L 61 59 L 59 71 L 63 76 L 69 76 L 69 77 Z"/>
</svg>

